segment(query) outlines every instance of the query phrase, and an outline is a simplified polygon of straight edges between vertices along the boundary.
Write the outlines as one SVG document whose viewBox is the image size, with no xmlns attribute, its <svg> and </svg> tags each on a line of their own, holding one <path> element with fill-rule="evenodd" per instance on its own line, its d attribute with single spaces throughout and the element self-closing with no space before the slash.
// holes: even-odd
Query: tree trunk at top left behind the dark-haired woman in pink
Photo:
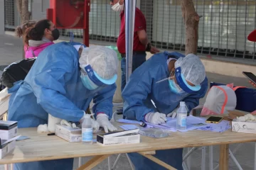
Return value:
<svg viewBox="0 0 256 170">
<path fill-rule="evenodd" d="M 28 0 L 16 0 L 16 6 L 21 18 L 21 23 L 28 21 L 31 18 L 31 13 L 28 11 Z M 23 59 L 25 58 L 24 48 L 22 48 Z"/>
</svg>

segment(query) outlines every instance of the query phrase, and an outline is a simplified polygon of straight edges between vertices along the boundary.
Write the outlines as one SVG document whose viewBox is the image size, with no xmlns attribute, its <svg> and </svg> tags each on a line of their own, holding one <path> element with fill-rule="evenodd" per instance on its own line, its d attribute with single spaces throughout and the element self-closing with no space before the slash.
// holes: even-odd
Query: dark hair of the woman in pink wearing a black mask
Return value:
<svg viewBox="0 0 256 170">
<path fill-rule="evenodd" d="M 50 29 L 50 20 L 38 21 L 34 27 L 26 30 L 24 42 L 28 44 L 28 40 L 42 40 L 46 28 Z"/>
</svg>

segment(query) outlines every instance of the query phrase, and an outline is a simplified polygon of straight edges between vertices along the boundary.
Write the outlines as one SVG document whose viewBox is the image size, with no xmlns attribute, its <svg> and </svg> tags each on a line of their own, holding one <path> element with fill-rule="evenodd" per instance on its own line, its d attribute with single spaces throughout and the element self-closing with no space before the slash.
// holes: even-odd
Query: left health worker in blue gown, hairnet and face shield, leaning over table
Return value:
<svg viewBox="0 0 256 170">
<path fill-rule="evenodd" d="M 18 128 L 47 124 L 48 113 L 55 118 L 82 123 L 93 100 L 94 130 L 99 126 L 105 128 L 105 132 L 116 130 L 109 119 L 117 62 L 117 53 L 107 47 L 85 47 L 75 42 L 50 45 L 38 55 L 26 79 L 9 89 L 8 119 L 18 121 Z M 86 145 L 81 149 L 86 149 Z M 15 164 L 14 169 L 71 170 L 73 159 L 20 163 Z"/>
</svg>

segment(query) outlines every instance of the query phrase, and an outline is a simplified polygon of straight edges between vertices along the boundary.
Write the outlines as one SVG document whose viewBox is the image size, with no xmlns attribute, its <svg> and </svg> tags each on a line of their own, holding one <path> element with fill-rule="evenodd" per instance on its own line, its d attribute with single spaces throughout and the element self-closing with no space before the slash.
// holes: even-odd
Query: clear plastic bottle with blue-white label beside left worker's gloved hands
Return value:
<svg viewBox="0 0 256 170">
<path fill-rule="evenodd" d="M 85 114 L 82 121 L 82 144 L 92 144 L 92 122 L 90 115 Z"/>
</svg>

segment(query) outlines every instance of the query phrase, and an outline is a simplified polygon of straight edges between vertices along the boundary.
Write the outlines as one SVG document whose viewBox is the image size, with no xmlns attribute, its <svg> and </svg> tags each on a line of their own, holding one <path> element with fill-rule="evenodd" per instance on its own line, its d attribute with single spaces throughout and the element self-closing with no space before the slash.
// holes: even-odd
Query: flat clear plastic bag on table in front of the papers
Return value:
<svg viewBox="0 0 256 170">
<path fill-rule="evenodd" d="M 139 134 L 147 137 L 168 137 L 166 130 L 161 128 L 139 128 Z"/>
</svg>

